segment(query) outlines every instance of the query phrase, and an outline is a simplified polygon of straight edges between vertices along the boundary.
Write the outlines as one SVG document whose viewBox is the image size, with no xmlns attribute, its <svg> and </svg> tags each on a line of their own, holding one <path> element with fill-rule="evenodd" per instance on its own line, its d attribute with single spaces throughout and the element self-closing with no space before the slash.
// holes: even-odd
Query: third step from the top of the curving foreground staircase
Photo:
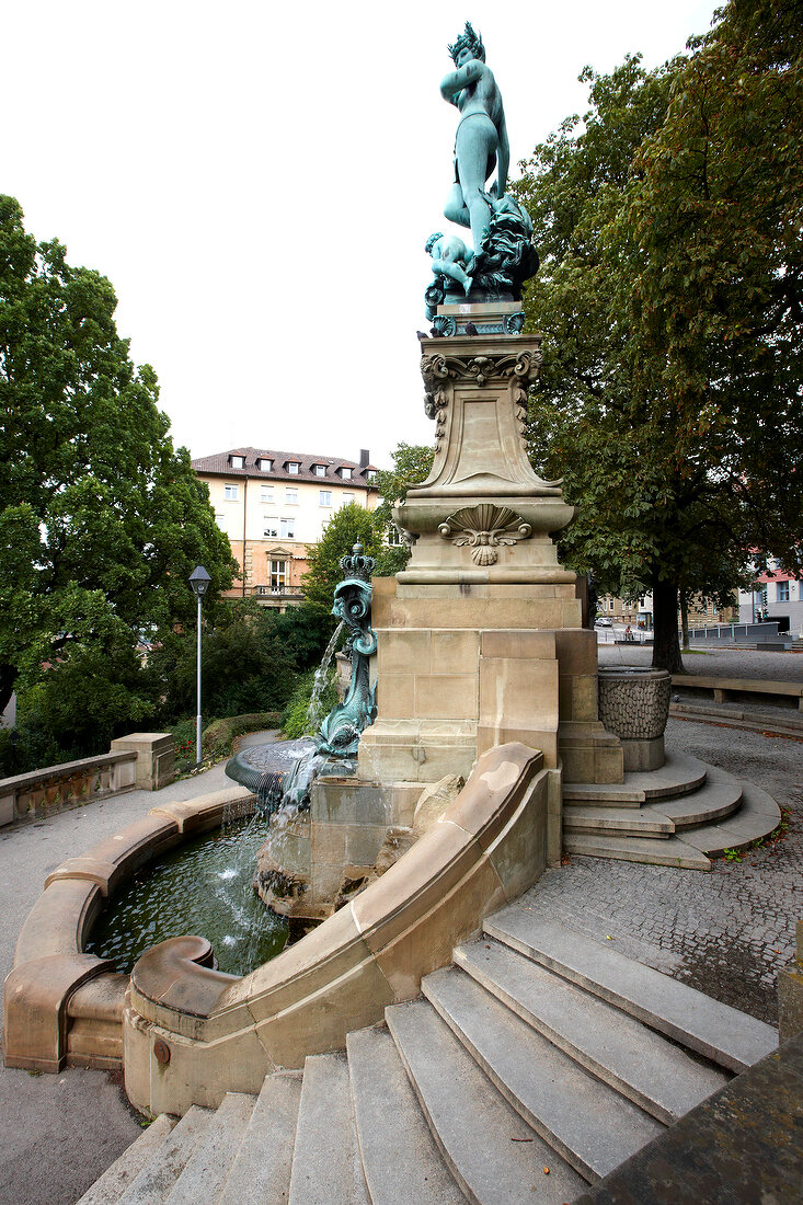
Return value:
<svg viewBox="0 0 803 1205">
<path fill-rule="evenodd" d="M 421 987 L 509 1104 L 586 1180 L 602 1180 L 662 1133 L 458 968 Z"/>
</svg>

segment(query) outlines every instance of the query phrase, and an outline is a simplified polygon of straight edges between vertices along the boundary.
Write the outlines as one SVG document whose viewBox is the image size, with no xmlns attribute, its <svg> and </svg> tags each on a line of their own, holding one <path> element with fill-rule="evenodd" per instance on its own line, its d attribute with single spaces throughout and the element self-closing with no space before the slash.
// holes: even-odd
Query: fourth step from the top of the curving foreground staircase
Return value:
<svg viewBox="0 0 803 1205">
<path fill-rule="evenodd" d="M 511 1109 L 427 1000 L 392 1005 L 385 1016 L 429 1128 L 469 1201 L 563 1205 L 580 1195 L 586 1181 Z"/>
</svg>

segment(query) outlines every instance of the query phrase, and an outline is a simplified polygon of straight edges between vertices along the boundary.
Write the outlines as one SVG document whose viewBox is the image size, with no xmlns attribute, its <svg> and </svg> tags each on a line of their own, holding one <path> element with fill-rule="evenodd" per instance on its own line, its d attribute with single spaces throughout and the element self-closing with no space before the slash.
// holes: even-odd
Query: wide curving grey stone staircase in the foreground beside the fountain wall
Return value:
<svg viewBox="0 0 803 1205">
<path fill-rule="evenodd" d="M 342 1053 L 158 1117 L 80 1205 L 576 1200 L 776 1034 L 520 903 Z"/>
</svg>

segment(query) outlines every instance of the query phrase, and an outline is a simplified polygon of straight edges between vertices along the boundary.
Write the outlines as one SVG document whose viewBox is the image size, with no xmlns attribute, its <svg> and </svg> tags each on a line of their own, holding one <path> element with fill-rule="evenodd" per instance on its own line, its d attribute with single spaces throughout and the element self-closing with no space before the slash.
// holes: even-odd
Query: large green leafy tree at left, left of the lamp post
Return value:
<svg viewBox="0 0 803 1205">
<path fill-rule="evenodd" d="M 37 245 L 0 196 L 0 709 L 36 689 L 65 729 L 88 681 L 112 727 L 143 715 L 137 639 L 194 623 L 198 563 L 209 617 L 235 569 L 116 304 L 105 277 Z"/>
</svg>

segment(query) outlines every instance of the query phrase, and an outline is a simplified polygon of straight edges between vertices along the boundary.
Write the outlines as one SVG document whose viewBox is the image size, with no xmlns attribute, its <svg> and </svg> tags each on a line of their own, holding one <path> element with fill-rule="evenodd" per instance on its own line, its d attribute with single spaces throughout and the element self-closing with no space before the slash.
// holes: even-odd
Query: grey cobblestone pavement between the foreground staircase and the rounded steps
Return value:
<svg viewBox="0 0 803 1205">
<path fill-rule="evenodd" d="M 768 790 L 787 812 L 785 835 L 742 862 L 717 859 L 709 874 L 572 856 L 527 903 L 778 1024 L 775 976 L 803 919 L 803 742 L 670 719 L 667 745 Z"/>
</svg>

